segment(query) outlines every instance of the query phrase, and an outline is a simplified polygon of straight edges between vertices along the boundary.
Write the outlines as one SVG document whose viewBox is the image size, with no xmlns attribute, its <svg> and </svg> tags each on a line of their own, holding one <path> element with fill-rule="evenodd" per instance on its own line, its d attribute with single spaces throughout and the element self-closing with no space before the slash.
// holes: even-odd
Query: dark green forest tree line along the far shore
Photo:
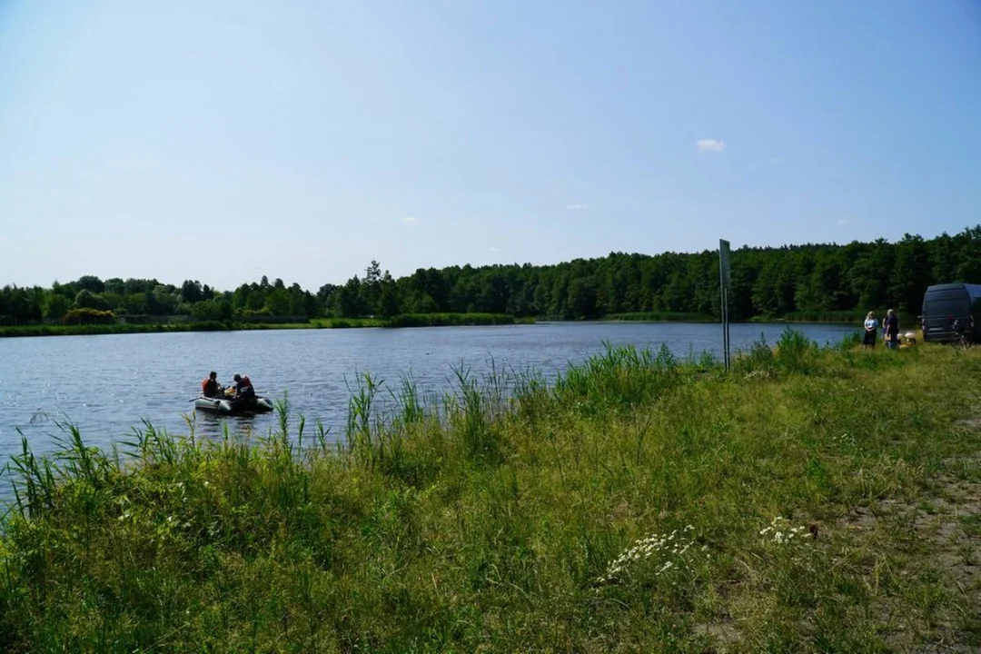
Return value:
<svg viewBox="0 0 981 654">
<path fill-rule="evenodd" d="M 743 247 L 732 252 L 733 320 L 814 317 L 895 308 L 920 313 L 935 283 L 981 282 L 981 226 L 932 239 L 890 243 Z M 718 252 L 611 253 L 557 265 L 451 266 L 391 277 L 372 261 L 364 275 L 315 293 L 282 279 L 217 290 L 196 279 L 79 277 L 50 288 L 0 289 L 0 324 L 72 322 L 83 316 L 196 321 L 277 317 L 390 318 L 400 314 L 489 313 L 519 318 L 599 319 L 630 313 L 719 316 Z"/>
</svg>

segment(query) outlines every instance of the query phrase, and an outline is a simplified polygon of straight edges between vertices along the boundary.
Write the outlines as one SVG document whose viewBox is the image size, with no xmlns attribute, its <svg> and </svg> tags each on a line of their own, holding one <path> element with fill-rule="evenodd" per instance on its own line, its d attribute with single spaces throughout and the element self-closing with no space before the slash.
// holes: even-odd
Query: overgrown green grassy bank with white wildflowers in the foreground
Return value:
<svg viewBox="0 0 981 654">
<path fill-rule="evenodd" d="M 0 649 L 977 646 L 978 373 L 788 332 L 730 375 L 611 350 L 436 409 L 405 383 L 385 421 L 365 379 L 339 447 L 147 428 L 123 464 L 68 428 L 14 463 Z"/>
</svg>

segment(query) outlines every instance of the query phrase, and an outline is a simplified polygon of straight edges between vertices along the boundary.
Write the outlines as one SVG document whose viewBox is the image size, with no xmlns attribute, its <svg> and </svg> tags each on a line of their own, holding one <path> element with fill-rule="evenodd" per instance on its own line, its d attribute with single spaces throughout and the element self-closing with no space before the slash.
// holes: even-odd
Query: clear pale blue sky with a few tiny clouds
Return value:
<svg viewBox="0 0 981 654">
<path fill-rule="evenodd" d="M 981 4 L 0 0 L 0 284 L 981 223 Z"/>
</svg>

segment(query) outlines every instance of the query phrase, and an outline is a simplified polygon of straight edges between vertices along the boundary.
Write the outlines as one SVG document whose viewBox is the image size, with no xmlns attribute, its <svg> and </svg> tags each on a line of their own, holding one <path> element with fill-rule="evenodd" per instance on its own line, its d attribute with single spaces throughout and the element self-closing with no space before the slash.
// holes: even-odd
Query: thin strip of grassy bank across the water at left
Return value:
<svg viewBox="0 0 981 654">
<path fill-rule="evenodd" d="M 158 323 L 149 325 L 26 325 L 0 327 L 4 336 L 70 336 L 107 333 L 158 333 L 163 331 L 236 331 L 243 329 L 312 329 L 345 327 L 448 327 L 469 325 L 515 325 L 534 323 L 502 314 L 403 314 L 382 318 L 318 318 L 307 323 L 241 323 L 208 321 L 202 323 Z"/>
</svg>

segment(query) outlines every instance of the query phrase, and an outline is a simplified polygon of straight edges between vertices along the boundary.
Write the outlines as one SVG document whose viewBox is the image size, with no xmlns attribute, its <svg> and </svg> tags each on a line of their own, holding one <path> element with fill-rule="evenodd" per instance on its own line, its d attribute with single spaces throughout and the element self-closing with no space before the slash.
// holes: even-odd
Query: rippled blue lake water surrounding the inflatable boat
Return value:
<svg viewBox="0 0 981 654">
<path fill-rule="evenodd" d="M 784 325 L 733 325 L 733 351 L 748 349 L 764 334 L 779 338 Z M 838 342 L 855 330 L 839 325 L 795 325 L 811 340 Z M 217 371 L 222 383 L 234 373 L 252 379 L 273 398 L 288 391 L 291 413 L 303 414 L 343 437 L 348 383 L 369 373 L 397 388 L 411 375 L 423 394 L 450 387 L 453 367 L 481 375 L 498 369 L 536 369 L 546 378 L 569 363 L 600 352 L 603 341 L 657 349 L 678 357 L 721 352 L 721 327 L 678 323 L 540 323 L 508 327 L 402 329 L 297 329 L 101 336 L 0 338 L 0 461 L 20 451 L 20 429 L 35 452 L 50 451 L 54 420 L 70 419 L 84 440 L 99 447 L 126 437 L 142 420 L 171 433 L 186 433 L 184 416 L 201 379 Z M 252 418 L 198 415 L 196 432 L 209 436 L 248 425 L 262 433 L 275 414 Z M 308 431 L 311 433 L 311 431 Z M 2 491 L 0 491 L 2 492 Z"/>
</svg>

